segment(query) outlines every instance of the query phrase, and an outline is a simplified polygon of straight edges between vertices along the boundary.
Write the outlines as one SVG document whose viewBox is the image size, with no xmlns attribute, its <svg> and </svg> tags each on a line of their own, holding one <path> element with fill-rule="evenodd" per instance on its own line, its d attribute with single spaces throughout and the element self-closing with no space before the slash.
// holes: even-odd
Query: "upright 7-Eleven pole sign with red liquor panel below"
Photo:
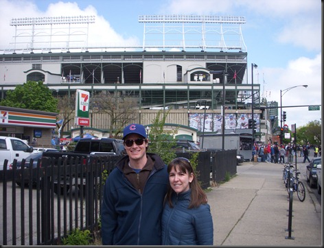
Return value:
<svg viewBox="0 0 324 248">
<path fill-rule="evenodd" d="M 76 124 L 89 126 L 89 100 L 90 92 L 76 90 Z"/>
</svg>

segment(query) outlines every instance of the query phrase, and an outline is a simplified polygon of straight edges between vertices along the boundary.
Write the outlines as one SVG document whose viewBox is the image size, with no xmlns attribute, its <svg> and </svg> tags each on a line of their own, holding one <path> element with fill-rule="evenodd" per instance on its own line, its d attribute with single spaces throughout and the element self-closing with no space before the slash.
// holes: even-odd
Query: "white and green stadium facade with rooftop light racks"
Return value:
<svg viewBox="0 0 324 248">
<path fill-rule="evenodd" d="M 16 85 L 43 81 L 54 96 L 80 89 L 133 97 L 136 121 L 143 125 L 152 123 L 157 111 L 172 109 L 170 123 L 187 125 L 198 134 L 220 133 L 222 122 L 227 133 L 246 129 L 241 121 L 251 119 L 253 113 L 256 140 L 267 142 L 271 137 L 268 112 L 260 104 L 260 86 L 253 77 L 252 82 L 248 79 L 248 53 L 241 31 L 245 18 L 139 16 L 144 25 L 143 45 L 107 47 L 80 45 L 78 37 L 73 41 L 70 28 L 73 23 L 80 25 L 80 20 L 72 18 L 12 19 L 14 42 L 0 55 L 1 99 Z M 93 16 L 84 18 L 84 28 L 93 22 Z M 69 25 L 68 40 L 54 36 L 53 24 Z M 25 32 L 21 26 L 30 27 L 30 40 L 20 41 L 19 32 Z M 45 29 L 49 40 L 38 37 L 41 32 L 32 32 L 35 29 Z M 105 129 L 106 118 L 93 117 L 91 125 Z M 246 134 L 251 130 L 246 129 Z"/>
</svg>

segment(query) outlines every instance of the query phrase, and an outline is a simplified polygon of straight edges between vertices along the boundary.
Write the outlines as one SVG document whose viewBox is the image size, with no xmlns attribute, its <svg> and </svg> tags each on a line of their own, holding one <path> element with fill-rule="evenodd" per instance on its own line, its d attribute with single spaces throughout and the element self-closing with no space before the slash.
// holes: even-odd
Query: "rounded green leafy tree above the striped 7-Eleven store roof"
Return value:
<svg viewBox="0 0 324 248">
<path fill-rule="evenodd" d="M 51 90 L 43 82 L 28 81 L 8 90 L 5 99 L 0 101 L 1 106 L 12 108 L 25 108 L 27 110 L 40 110 L 58 112 L 58 100 L 52 96 Z"/>
</svg>

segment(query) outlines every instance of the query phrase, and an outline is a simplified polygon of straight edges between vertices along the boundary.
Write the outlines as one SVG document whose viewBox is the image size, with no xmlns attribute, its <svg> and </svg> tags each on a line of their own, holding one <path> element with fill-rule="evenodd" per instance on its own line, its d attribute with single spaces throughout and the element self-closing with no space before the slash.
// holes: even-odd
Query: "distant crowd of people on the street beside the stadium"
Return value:
<svg viewBox="0 0 324 248">
<path fill-rule="evenodd" d="M 308 142 L 306 145 L 294 145 L 294 144 L 283 144 L 278 145 L 277 143 L 271 144 L 270 142 L 266 145 L 255 143 L 253 145 L 252 155 L 253 158 L 257 156 L 261 158 L 261 162 L 267 163 L 280 163 L 284 164 L 285 161 L 288 162 L 289 156 L 303 157 L 303 162 L 306 160 L 310 162 L 310 149 L 314 149 L 314 158 L 321 156 L 321 146 L 311 146 Z"/>
</svg>

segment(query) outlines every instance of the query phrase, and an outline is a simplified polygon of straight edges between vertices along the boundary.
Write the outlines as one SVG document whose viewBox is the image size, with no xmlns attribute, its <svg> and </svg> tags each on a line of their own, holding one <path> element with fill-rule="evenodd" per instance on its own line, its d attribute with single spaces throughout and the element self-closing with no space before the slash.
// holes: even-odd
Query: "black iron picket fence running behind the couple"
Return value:
<svg viewBox="0 0 324 248">
<path fill-rule="evenodd" d="M 192 153 L 177 156 L 190 159 Z M 0 244 L 61 245 L 76 229 L 100 236 L 103 184 L 119 158 L 43 158 L 28 169 L 24 163 L 16 169 L 15 161 L 11 170 L 5 164 L 0 171 Z M 196 170 L 203 188 L 221 182 L 226 173 L 236 173 L 236 151 L 200 152 Z"/>
</svg>

